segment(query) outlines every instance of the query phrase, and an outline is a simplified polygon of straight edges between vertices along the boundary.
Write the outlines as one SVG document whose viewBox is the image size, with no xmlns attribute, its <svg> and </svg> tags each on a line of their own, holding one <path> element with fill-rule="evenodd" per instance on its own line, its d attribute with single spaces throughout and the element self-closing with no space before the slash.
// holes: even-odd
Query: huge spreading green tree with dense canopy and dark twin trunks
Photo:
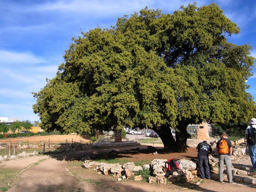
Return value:
<svg viewBox="0 0 256 192">
<path fill-rule="evenodd" d="M 251 46 L 216 4 L 173 14 L 145 8 L 73 38 L 57 76 L 34 93 L 45 130 L 90 132 L 120 127 L 155 130 L 165 147 L 186 147 L 189 123 L 238 123 L 256 114 L 245 80 Z"/>
</svg>

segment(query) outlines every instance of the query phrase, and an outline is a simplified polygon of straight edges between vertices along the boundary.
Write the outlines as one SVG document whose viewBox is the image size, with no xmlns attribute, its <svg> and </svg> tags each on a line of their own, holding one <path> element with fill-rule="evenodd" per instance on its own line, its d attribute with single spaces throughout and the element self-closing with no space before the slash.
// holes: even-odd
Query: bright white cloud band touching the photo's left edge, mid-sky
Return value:
<svg viewBox="0 0 256 192">
<path fill-rule="evenodd" d="M 5 64 L 37 64 L 45 63 L 42 57 L 35 56 L 29 52 L 11 52 L 0 50 L 0 65 Z"/>
</svg>

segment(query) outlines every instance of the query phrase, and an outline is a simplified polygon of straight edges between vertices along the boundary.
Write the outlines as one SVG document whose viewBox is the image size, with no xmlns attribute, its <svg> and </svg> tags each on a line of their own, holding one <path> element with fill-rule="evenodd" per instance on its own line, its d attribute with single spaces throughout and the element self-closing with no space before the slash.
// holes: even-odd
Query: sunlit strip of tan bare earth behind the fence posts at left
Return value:
<svg viewBox="0 0 256 192">
<path fill-rule="evenodd" d="M 8 138 L 8 139 L 1 139 L 1 143 L 18 143 L 20 142 L 29 142 L 29 143 L 41 143 L 44 140 L 48 142 L 50 139 L 51 143 L 65 143 L 68 140 L 68 143 L 72 142 L 79 142 L 79 143 L 89 143 L 90 140 L 84 139 L 80 135 L 46 135 L 46 136 L 31 136 L 31 137 L 20 137 L 20 138 Z"/>
</svg>

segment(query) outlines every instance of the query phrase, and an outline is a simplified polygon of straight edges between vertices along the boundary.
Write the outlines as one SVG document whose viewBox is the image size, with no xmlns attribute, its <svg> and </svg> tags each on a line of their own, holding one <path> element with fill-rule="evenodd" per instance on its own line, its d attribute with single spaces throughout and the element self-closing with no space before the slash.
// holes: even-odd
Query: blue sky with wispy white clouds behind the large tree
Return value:
<svg viewBox="0 0 256 192">
<path fill-rule="evenodd" d="M 97 27 L 115 25 L 117 17 L 132 14 L 148 6 L 172 13 L 180 5 L 194 1 L 182 0 L 0 0 L 0 116 L 39 120 L 33 113 L 36 102 L 31 92 L 53 78 L 63 62 L 64 50 L 72 37 Z M 241 33 L 228 39 L 231 43 L 250 43 L 256 57 L 256 2 L 253 0 L 196 1 L 198 6 L 217 3 L 224 14 L 236 22 Z M 253 69 L 256 72 L 255 68 Z M 256 76 L 248 82 L 248 92 L 256 98 Z M 255 100 L 255 99 L 254 99 Z"/>
</svg>

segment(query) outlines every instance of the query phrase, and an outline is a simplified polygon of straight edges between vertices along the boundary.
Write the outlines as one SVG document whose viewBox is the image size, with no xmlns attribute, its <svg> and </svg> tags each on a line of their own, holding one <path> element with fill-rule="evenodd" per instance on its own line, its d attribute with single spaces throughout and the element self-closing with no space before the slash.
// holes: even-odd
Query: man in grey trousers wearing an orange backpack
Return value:
<svg viewBox="0 0 256 192">
<path fill-rule="evenodd" d="M 223 132 L 221 135 L 221 139 L 218 140 L 216 146 L 217 154 L 219 154 L 219 177 L 220 182 L 222 183 L 224 180 L 224 161 L 226 164 L 227 174 L 228 174 L 228 183 L 233 183 L 232 176 L 232 163 L 231 163 L 231 155 L 233 152 L 232 144 L 230 140 L 227 139 L 227 133 Z"/>
</svg>

